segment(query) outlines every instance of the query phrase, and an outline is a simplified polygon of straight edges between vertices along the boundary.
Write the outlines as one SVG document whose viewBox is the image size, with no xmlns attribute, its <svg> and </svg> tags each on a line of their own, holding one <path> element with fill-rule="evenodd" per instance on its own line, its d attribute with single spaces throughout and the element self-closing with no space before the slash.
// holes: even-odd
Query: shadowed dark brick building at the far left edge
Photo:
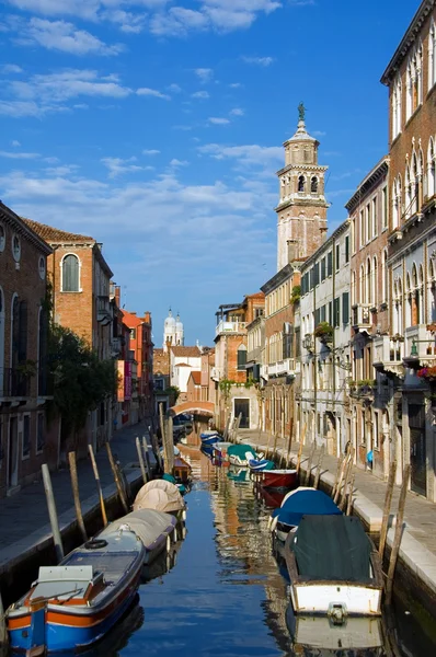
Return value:
<svg viewBox="0 0 436 657">
<path fill-rule="evenodd" d="M 47 372 L 50 246 L 0 203 L 0 498 L 58 465 L 58 424 Z"/>
</svg>

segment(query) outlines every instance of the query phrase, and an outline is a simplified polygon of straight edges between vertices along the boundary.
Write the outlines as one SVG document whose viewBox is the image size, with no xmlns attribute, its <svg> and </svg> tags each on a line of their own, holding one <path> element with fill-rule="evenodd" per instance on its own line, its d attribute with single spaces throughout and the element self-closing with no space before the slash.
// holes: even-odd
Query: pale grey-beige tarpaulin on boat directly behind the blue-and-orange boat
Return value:
<svg viewBox="0 0 436 657">
<path fill-rule="evenodd" d="M 100 532 L 99 538 L 113 533 L 123 526 L 128 526 L 140 538 L 144 546 L 151 549 L 160 537 L 167 537 L 173 531 L 176 519 L 170 514 L 154 509 L 141 509 L 111 522 Z"/>
</svg>

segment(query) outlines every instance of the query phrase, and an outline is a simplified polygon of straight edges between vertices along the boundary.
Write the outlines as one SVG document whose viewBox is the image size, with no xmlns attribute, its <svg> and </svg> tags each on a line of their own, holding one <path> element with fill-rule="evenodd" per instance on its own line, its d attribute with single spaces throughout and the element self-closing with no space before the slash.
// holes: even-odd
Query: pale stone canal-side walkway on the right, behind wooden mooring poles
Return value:
<svg viewBox="0 0 436 657">
<path fill-rule="evenodd" d="M 246 442 L 257 450 L 266 451 L 267 437 L 253 431 L 240 431 L 239 442 Z M 298 443 L 297 443 L 298 445 Z M 271 446 L 269 446 L 271 447 Z M 318 463 L 319 452 L 314 454 L 309 465 L 310 446 L 305 446 L 300 473 L 305 481 L 308 470 L 311 470 L 311 483 Z M 276 460 L 287 456 L 287 448 L 276 448 Z M 291 462 L 297 462 L 298 452 L 290 452 Z M 337 470 L 337 459 L 325 456 L 322 461 L 320 488 L 331 494 Z M 386 483 L 370 472 L 355 469 L 355 493 L 353 495 L 353 514 L 364 523 L 368 533 L 378 540 L 383 517 Z M 395 487 L 391 507 L 390 527 L 387 537 L 386 554 L 389 558 L 394 537 L 394 514 L 398 508 L 399 489 Z M 433 627 L 436 619 L 436 505 L 420 498 L 413 493 L 408 494 L 405 506 L 404 531 L 400 545 L 399 561 L 395 572 L 394 592 L 409 603 L 417 606 L 421 615 L 431 618 Z"/>
</svg>

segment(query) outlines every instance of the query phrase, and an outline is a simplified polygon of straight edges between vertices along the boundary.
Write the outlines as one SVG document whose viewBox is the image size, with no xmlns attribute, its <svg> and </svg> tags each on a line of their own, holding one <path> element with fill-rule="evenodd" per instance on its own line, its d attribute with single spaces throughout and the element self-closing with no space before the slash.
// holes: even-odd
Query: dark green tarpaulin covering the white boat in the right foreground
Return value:
<svg viewBox="0 0 436 657">
<path fill-rule="evenodd" d="M 370 583 L 371 543 L 358 518 L 305 516 L 290 549 L 309 579 Z"/>
</svg>

